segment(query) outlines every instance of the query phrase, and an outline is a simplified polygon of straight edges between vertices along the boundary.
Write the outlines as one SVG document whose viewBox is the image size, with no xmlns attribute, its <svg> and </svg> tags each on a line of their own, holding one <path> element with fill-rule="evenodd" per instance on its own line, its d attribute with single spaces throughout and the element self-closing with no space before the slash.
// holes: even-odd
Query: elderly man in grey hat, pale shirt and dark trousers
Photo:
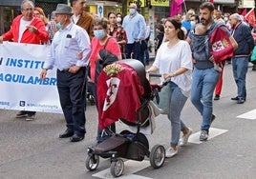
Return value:
<svg viewBox="0 0 256 179">
<path fill-rule="evenodd" d="M 59 138 L 71 137 L 71 142 L 83 140 L 85 130 L 84 100 L 86 89 L 86 66 L 89 62 L 90 38 L 86 30 L 76 26 L 72 20 L 72 8 L 58 4 L 55 20 L 59 29 L 54 37 L 50 58 L 40 73 L 45 80 L 47 70 L 57 69 L 57 89 L 67 129 Z M 77 58 L 82 52 L 82 59 Z"/>
</svg>

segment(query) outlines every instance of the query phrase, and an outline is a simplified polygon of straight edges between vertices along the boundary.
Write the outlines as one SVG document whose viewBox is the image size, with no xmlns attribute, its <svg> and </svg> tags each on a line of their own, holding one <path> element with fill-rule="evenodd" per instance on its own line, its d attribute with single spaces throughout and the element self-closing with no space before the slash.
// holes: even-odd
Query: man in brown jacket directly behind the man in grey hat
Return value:
<svg viewBox="0 0 256 179">
<path fill-rule="evenodd" d="M 75 25 L 83 28 L 89 34 L 90 40 L 94 37 L 93 21 L 94 17 L 85 11 L 86 0 L 70 0 L 74 15 L 72 16 Z"/>
</svg>

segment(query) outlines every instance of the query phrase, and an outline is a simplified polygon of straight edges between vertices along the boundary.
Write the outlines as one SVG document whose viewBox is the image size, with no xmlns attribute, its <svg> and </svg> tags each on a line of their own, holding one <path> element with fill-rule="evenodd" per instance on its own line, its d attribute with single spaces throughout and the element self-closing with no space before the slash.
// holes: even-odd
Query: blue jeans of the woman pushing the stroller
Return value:
<svg viewBox="0 0 256 179">
<path fill-rule="evenodd" d="M 181 89 L 173 82 L 171 82 L 170 90 L 170 112 L 168 119 L 172 125 L 171 146 L 178 146 L 180 133 L 186 128 L 181 120 L 181 110 L 185 105 L 187 97 L 182 94 Z"/>
</svg>

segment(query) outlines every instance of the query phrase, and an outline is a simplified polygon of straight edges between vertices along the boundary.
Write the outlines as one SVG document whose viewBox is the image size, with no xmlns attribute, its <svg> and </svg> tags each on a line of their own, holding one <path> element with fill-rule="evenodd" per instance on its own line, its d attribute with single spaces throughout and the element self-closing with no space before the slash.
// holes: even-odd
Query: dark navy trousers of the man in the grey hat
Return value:
<svg viewBox="0 0 256 179">
<path fill-rule="evenodd" d="M 67 70 L 57 70 L 57 89 L 67 129 L 78 135 L 84 135 L 86 69 L 81 68 L 75 74 Z"/>
</svg>

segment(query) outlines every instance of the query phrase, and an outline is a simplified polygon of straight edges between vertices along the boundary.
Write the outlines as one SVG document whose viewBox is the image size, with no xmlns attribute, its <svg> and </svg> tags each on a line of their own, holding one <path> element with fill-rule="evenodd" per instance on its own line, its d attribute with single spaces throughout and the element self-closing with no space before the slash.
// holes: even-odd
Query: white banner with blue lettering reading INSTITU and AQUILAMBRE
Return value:
<svg viewBox="0 0 256 179">
<path fill-rule="evenodd" d="M 4 42 L 0 44 L 0 109 L 62 113 L 56 70 L 40 72 L 50 46 Z"/>
</svg>

